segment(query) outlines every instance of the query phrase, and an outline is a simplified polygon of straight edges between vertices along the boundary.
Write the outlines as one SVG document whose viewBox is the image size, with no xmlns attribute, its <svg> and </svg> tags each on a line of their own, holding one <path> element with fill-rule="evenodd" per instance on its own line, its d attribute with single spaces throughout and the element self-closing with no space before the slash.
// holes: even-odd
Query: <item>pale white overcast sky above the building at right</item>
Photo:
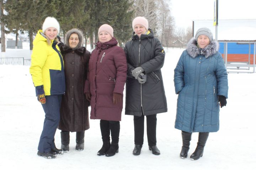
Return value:
<svg viewBox="0 0 256 170">
<path fill-rule="evenodd" d="M 192 26 L 194 19 L 213 19 L 214 0 L 170 0 L 177 27 Z M 256 0 L 219 0 L 219 19 L 256 19 Z"/>
</svg>

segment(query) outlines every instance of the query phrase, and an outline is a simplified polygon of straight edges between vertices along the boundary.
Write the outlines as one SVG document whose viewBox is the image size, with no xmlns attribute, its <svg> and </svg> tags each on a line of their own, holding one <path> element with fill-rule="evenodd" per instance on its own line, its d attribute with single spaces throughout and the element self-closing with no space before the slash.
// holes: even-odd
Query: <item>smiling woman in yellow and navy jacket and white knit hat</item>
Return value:
<svg viewBox="0 0 256 170">
<path fill-rule="evenodd" d="M 39 140 L 39 156 L 55 158 L 62 154 L 54 144 L 54 135 L 60 120 L 60 103 L 65 94 L 64 63 L 55 38 L 59 33 L 59 23 L 47 17 L 43 29 L 37 32 L 33 41 L 30 74 L 36 87 L 37 100 L 42 104 L 45 119 Z"/>
</svg>

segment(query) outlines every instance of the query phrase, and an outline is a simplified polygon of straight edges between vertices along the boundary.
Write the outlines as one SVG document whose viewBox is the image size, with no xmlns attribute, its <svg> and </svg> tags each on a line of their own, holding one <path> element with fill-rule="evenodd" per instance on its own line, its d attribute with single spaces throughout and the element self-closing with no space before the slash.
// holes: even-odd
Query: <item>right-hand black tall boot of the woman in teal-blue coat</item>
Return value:
<svg viewBox="0 0 256 170">
<path fill-rule="evenodd" d="M 209 132 L 199 132 L 197 147 L 194 153 L 192 153 L 192 155 L 190 156 L 191 160 L 197 160 L 203 156 L 203 149 L 204 146 L 206 145 L 208 136 Z"/>
</svg>

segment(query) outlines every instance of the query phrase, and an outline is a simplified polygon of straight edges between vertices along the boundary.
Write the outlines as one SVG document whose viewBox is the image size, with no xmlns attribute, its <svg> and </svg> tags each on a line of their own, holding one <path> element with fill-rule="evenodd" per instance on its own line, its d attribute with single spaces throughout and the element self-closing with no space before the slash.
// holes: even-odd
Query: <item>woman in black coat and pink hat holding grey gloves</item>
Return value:
<svg viewBox="0 0 256 170">
<path fill-rule="evenodd" d="M 165 52 L 152 30 L 148 29 L 146 18 L 136 17 L 132 26 L 135 34 L 124 51 L 128 64 L 125 114 L 134 116 L 133 155 L 139 155 L 143 145 L 144 116 L 149 150 L 159 155 L 156 147 L 156 114 L 167 112 L 161 74 Z"/>
</svg>

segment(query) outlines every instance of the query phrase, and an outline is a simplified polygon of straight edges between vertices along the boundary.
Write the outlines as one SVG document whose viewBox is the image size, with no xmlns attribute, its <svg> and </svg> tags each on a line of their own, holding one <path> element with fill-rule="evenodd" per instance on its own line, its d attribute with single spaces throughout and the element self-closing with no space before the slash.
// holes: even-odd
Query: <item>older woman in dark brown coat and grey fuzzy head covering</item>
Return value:
<svg viewBox="0 0 256 170">
<path fill-rule="evenodd" d="M 82 47 L 83 34 L 79 29 L 66 33 L 65 45 L 60 47 L 64 59 L 66 93 L 60 108 L 59 129 L 61 148 L 69 151 L 69 132 L 76 132 L 76 151 L 84 149 L 85 130 L 89 129 L 88 101 L 84 94 L 84 84 L 90 52 Z"/>
</svg>

